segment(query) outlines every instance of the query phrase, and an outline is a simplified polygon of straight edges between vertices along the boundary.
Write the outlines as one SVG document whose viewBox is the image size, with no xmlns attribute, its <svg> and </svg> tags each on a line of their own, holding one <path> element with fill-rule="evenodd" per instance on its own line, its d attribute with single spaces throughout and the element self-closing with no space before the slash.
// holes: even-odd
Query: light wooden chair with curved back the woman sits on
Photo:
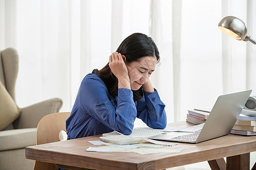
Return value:
<svg viewBox="0 0 256 170">
<path fill-rule="evenodd" d="M 60 141 L 59 133 L 66 130 L 66 120 L 70 112 L 52 113 L 44 116 L 36 129 L 36 145 Z M 36 161 L 34 170 L 58 169 L 55 164 Z"/>
</svg>

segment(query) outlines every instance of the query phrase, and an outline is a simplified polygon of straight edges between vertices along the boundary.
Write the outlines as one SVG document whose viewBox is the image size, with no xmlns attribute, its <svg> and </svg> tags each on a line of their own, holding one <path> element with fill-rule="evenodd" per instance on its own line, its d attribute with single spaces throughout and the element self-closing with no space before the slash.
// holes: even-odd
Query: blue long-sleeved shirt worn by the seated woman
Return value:
<svg viewBox="0 0 256 170">
<path fill-rule="evenodd" d="M 67 134 L 70 138 L 81 138 L 117 130 L 129 135 L 136 117 L 150 128 L 164 129 L 164 107 L 156 90 L 144 91 L 142 99 L 134 102 L 131 90 L 119 88 L 118 97 L 113 97 L 98 75 L 88 74 L 66 121 Z"/>
</svg>

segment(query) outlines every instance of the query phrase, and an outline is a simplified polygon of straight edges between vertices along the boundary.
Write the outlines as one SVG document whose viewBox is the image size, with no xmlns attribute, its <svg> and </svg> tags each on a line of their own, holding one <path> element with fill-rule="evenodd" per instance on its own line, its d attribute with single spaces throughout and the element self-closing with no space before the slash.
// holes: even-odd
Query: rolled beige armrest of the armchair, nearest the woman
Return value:
<svg viewBox="0 0 256 170">
<path fill-rule="evenodd" d="M 14 129 L 36 128 L 42 117 L 59 112 L 62 104 L 63 101 L 61 99 L 53 98 L 22 108 L 20 116 L 13 123 Z"/>
</svg>

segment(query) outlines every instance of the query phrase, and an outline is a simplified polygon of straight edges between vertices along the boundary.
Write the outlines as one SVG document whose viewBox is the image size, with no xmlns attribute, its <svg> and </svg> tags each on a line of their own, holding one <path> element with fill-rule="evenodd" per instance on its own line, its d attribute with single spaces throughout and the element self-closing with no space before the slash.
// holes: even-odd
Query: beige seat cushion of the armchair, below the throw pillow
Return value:
<svg viewBox="0 0 256 170">
<path fill-rule="evenodd" d="M 36 128 L 0 131 L 0 151 L 35 145 Z"/>
</svg>

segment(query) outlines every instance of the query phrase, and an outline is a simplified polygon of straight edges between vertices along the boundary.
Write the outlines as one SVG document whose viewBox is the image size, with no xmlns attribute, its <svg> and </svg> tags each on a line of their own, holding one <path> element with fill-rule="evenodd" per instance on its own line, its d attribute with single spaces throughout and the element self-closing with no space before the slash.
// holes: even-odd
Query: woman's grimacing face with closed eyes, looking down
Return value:
<svg viewBox="0 0 256 170">
<path fill-rule="evenodd" d="M 140 61 L 126 63 L 129 72 L 131 90 L 139 90 L 155 70 L 157 59 L 153 56 L 142 57 Z"/>
</svg>

